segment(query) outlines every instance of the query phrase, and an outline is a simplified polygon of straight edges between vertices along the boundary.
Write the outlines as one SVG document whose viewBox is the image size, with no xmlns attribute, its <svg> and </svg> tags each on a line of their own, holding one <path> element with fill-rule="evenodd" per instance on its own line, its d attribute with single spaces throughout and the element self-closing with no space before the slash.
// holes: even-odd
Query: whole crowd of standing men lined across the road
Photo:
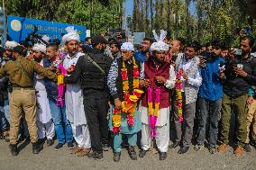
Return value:
<svg viewBox="0 0 256 170">
<path fill-rule="evenodd" d="M 78 157 L 101 159 L 112 147 L 115 162 L 123 142 L 133 160 L 138 143 L 139 157 L 156 147 L 160 160 L 169 148 L 187 153 L 192 139 L 195 150 L 206 147 L 211 154 L 227 151 L 230 140 L 236 156 L 255 147 L 251 36 L 242 35 L 239 47 L 219 40 L 200 46 L 196 40 L 170 40 L 161 30 L 135 49 L 102 35 L 83 43 L 73 27 L 66 31 L 61 43 L 44 36 L 47 44 L 7 41 L 2 49 L 0 130 L 12 155 L 23 139 L 38 154 L 54 137 L 56 150 L 67 143 Z"/>
</svg>

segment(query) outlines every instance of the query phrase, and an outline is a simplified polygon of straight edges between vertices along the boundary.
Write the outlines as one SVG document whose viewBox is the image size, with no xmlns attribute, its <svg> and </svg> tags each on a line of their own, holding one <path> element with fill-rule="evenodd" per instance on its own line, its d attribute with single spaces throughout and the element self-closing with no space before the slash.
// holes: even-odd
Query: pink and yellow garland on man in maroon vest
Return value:
<svg viewBox="0 0 256 170">
<path fill-rule="evenodd" d="M 160 110 L 160 88 L 157 88 L 155 91 L 155 101 L 154 101 L 154 109 L 153 109 L 153 101 L 152 101 L 152 89 L 148 87 L 148 106 L 149 106 L 149 115 L 150 115 L 150 125 L 151 125 L 151 137 L 156 137 L 156 124 L 159 116 Z"/>
</svg>

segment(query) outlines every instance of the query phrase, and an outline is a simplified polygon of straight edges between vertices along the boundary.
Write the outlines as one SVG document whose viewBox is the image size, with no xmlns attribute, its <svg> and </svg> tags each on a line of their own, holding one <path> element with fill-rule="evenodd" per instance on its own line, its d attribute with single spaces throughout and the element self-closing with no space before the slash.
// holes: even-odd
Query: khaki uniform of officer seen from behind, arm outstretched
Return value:
<svg viewBox="0 0 256 170">
<path fill-rule="evenodd" d="M 36 127 L 36 96 L 32 80 L 34 72 L 57 81 L 57 75 L 55 73 L 23 57 L 17 58 L 15 61 L 8 61 L 5 66 L 0 68 L 0 78 L 8 76 L 13 85 L 13 92 L 10 99 L 10 143 L 13 145 L 18 142 L 22 111 L 25 113 L 32 143 L 38 140 Z"/>
</svg>

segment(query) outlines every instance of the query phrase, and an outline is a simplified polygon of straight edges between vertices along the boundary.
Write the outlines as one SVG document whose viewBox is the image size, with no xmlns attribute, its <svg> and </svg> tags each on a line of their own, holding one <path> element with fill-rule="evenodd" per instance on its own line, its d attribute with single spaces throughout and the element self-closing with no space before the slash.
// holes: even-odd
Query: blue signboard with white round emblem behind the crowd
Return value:
<svg viewBox="0 0 256 170">
<path fill-rule="evenodd" d="M 87 27 L 83 25 L 72 25 L 68 23 L 60 22 L 48 22 L 43 20 L 35 20 L 29 18 L 23 18 L 18 16 L 8 15 L 7 17 L 7 29 L 10 40 L 20 42 L 25 40 L 26 37 L 33 31 L 34 26 L 37 26 L 39 35 L 47 35 L 50 40 L 59 39 L 61 35 L 66 34 L 65 30 L 68 26 L 74 26 L 75 30 L 78 30 L 80 40 L 86 39 Z"/>
</svg>

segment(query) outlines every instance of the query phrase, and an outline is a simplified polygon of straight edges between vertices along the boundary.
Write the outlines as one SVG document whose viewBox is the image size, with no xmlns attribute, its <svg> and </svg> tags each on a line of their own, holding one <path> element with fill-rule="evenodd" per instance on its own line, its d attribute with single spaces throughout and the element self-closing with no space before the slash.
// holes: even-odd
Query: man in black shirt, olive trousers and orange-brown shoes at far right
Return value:
<svg viewBox="0 0 256 170">
<path fill-rule="evenodd" d="M 248 89 L 256 82 L 256 58 L 251 57 L 251 48 L 254 40 L 250 36 L 240 40 L 242 55 L 236 56 L 227 63 L 227 67 L 220 78 L 224 81 L 224 97 L 222 103 L 223 115 L 221 120 L 221 144 L 219 152 L 225 152 L 229 143 L 230 120 L 233 112 L 236 117 L 237 147 L 234 150 L 236 156 L 242 156 L 247 135 L 246 129 L 246 101 Z"/>
</svg>

